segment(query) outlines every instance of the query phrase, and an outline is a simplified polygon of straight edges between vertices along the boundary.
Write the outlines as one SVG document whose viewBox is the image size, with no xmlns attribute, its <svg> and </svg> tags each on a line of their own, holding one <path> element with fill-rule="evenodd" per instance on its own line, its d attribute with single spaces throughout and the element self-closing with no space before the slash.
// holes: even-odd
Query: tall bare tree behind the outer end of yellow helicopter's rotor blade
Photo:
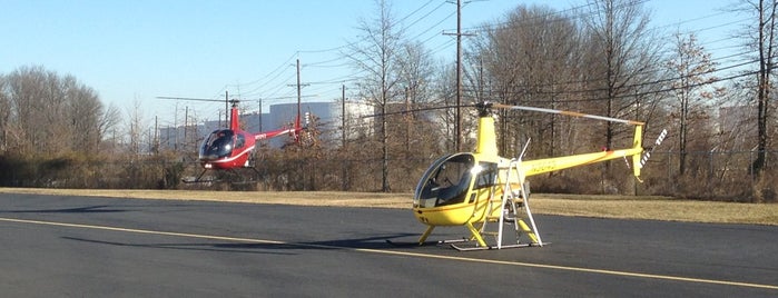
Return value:
<svg viewBox="0 0 778 298">
<path fill-rule="evenodd" d="M 590 73 L 585 79 L 592 102 L 604 101 L 603 113 L 624 118 L 636 112 L 640 87 L 657 78 L 659 42 L 648 30 L 649 14 L 639 0 L 591 0 L 587 18 Z M 597 105 L 602 107 L 601 105 Z M 617 130 L 607 122 L 605 147 L 611 148 Z"/>
</svg>

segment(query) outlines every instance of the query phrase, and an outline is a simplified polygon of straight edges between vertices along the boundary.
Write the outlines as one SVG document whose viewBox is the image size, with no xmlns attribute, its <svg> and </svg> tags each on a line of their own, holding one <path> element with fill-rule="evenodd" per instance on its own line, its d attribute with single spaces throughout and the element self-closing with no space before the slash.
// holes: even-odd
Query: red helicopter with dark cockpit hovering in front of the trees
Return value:
<svg viewBox="0 0 778 298">
<path fill-rule="evenodd" d="M 213 99 L 196 99 L 196 98 L 174 98 L 174 97 L 159 97 L 164 99 L 177 99 L 177 100 L 198 100 L 198 101 L 220 101 Z M 216 180 L 201 180 L 203 175 L 206 171 L 213 170 L 227 170 L 235 172 L 236 169 L 250 168 L 255 172 L 257 170 L 253 165 L 253 152 L 258 140 L 266 140 L 275 138 L 283 135 L 289 135 L 294 141 L 299 140 L 301 131 L 307 129 L 301 126 L 301 103 L 297 102 L 297 118 L 295 119 L 294 127 L 292 128 L 280 128 L 276 130 L 263 131 L 257 133 L 252 133 L 240 129 L 238 102 L 239 100 L 233 99 L 232 108 L 229 112 L 229 128 L 219 128 L 210 132 L 200 145 L 198 152 L 198 161 L 203 166 L 203 172 L 197 176 L 194 180 L 183 179 L 185 183 L 197 183 L 197 182 L 214 182 Z M 307 118 L 306 118 L 307 119 Z M 306 121 L 307 123 L 307 121 Z"/>
</svg>

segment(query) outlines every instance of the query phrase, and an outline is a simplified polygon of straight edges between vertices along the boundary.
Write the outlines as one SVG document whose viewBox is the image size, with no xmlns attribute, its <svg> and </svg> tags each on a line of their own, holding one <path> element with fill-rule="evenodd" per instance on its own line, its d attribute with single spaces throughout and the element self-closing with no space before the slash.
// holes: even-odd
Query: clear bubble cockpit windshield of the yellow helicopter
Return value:
<svg viewBox="0 0 778 298">
<path fill-rule="evenodd" d="M 463 202 L 476 168 L 472 153 L 436 160 L 424 173 L 414 195 L 414 207 L 430 208 Z"/>
</svg>

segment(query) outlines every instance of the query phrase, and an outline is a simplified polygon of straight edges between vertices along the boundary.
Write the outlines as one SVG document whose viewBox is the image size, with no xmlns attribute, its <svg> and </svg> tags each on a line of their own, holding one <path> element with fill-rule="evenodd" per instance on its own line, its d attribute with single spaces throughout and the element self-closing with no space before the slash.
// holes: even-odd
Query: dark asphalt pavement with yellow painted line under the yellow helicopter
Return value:
<svg viewBox="0 0 778 298">
<path fill-rule="evenodd" d="M 0 294 L 778 296 L 778 227 L 535 220 L 551 245 L 462 252 L 387 244 L 424 230 L 403 209 L 0 195 Z"/>
</svg>

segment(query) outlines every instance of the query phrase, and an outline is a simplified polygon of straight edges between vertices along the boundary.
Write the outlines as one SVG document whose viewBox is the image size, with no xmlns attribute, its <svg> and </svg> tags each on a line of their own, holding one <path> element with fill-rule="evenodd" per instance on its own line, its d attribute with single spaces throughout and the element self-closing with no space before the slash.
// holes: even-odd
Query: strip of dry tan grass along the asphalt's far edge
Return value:
<svg viewBox="0 0 778 298">
<path fill-rule="evenodd" d="M 410 193 L 339 191 L 208 191 L 0 188 L 0 193 L 206 200 L 304 206 L 411 209 Z M 679 200 L 667 197 L 543 195 L 532 197 L 535 213 L 778 226 L 778 205 Z"/>
</svg>

